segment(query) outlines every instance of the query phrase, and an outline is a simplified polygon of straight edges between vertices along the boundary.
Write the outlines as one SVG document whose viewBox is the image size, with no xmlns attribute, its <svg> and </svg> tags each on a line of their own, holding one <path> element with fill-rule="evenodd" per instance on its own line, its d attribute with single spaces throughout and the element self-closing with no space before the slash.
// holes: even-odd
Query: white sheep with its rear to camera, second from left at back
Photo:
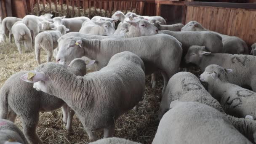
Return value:
<svg viewBox="0 0 256 144">
<path fill-rule="evenodd" d="M 31 51 L 32 50 L 32 37 L 29 31 L 29 28 L 23 24 L 21 21 L 17 21 L 15 24 L 13 24 L 13 27 L 11 28 L 15 44 L 17 45 L 19 53 L 22 53 L 21 51 L 21 43 L 24 43 L 25 51 Z"/>
</svg>

